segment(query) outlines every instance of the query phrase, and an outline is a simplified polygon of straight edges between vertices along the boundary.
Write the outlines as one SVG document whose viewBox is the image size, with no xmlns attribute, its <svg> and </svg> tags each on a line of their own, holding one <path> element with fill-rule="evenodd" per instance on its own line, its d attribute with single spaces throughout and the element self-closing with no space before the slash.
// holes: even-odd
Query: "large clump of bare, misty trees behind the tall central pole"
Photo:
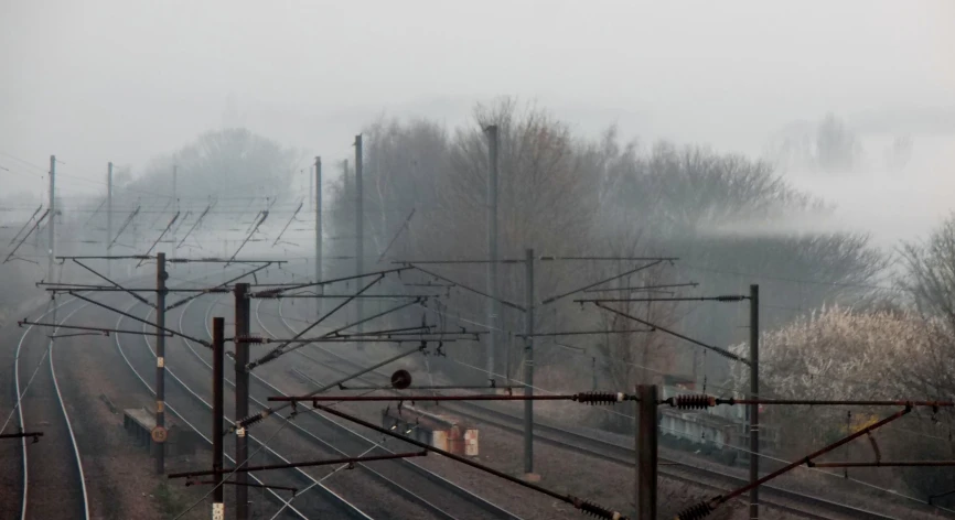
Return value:
<svg viewBox="0 0 955 520">
<path fill-rule="evenodd" d="M 367 254 L 377 257 L 394 240 L 390 258 L 485 258 L 487 140 L 500 136 L 500 250 L 502 258 L 536 254 L 679 257 L 620 280 L 620 285 L 699 282 L 695 294 L 741 293 L 761 283 L 768 294 L 763 326 L 787 323 L 826 302 L 855 303 L 857 285 L 877 279 L 883 267 L 868 237 L 852 234 L 785 234 L 773 225 L 830 210 L 788 186 L 765 162 L 721 154 L 704 147 L 661 142 L 648 149 L 622 141 L 611 128 L 599 139 L 575 133 L 564 121 L 513 99 L 478 106 L 473 123 L 448 129 L 429 120 L 379 120 L 363 132 L 364 207 Z M 350 175 L 332 189 L 326 232 L 335 254 L 354 251 L 354 183 Z M 405 228 L 408 215 L 414 213 Z M 366 260 L 366 268 L 369 266 Z M 539 300 L 633 268 L 634 262 L 538 262 Z M 347 272 L 343 268 L 343 272 Z M 434 267 L 436 272 L 473 288 L 484 286 L 483 266 Z M 423 277 L 427 278 L 427 277 Z M 503 299 L 523 303 L 524 273 L 500 269 Z M 800 280 L 818 283 L 805 284 Z M 601 293 L 607 295 L 609 293 Z M 614 291 L 616 297 L 621 293 Z M 684 293 L 686 294 L 686 293 Z M 482 297 L 452 290 L 454 316 L 482 322 Z M 774 308 L 779 306 L 782 308 Z M 716 345 L 744 338 L 744 306 L 637 304 L 636 315 L 678 328 Z M 559 301 L 536 314 L 538 331 L 573 327 L 621 328 L 622 323 L 592 308 Z M 637 324 L 630 323 L 630 326 Z M 473 325 L 472 325 L 473 326 Z M 523 331 L 523 314 L 505 311 L 502 328 Z M 659 382 L 662 373 L 719 380 L 726 361 L 662 334 L 580 339 L 570 347 L 541 340 L 535 362 L 550 381 L 590 383 L 582 358 L 597 358 L 605 376 L 622 386 Z M 518 376 L 523 360 L 500 346 L 497 371 Z M 509 351 L 505 351 L 509 350 Z M 483 348 L 449 348 L 449 357 L 481 365 Z M 505 362 L 506 360 L 506 362 Z M 579 388 L 579 386 L 577 387 Z"/>
</svg>

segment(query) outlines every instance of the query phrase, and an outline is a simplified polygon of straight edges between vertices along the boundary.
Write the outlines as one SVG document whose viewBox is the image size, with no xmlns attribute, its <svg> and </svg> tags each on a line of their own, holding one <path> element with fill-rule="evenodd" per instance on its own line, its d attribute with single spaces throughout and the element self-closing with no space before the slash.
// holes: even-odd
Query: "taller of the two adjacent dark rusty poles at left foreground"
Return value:
<svg viewBox="0 0 955 520">
<path fill-rule="evenodd" d="M 249 335 L 249 317 L 251 315 L 248 299 L 249 284 L 236 283 L 235 294 L 235 337 L 247 337 Z M 249 414 L 249 372 L 246 366 L 249 362 L 249 344 L 235 342 L 235 420 L 242 421 Z M 244 467 L 248 462 L 248 437 L 245 429 L 236 430 L 235 445 L 236 467 Z M 236 520 L 248 518 L 248 474 L 237 473 L 235 476 L 235 513 Z"/>
</svg>

